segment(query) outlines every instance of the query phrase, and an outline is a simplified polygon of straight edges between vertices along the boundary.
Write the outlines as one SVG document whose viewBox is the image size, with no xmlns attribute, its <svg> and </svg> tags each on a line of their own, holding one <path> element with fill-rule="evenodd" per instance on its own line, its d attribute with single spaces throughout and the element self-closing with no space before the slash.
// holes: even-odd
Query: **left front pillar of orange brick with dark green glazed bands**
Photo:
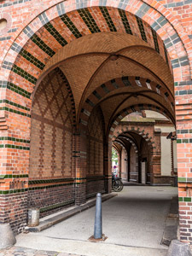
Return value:
<svg viewBox="0 0 192 256">
<path fill-rule="evenodd" d="M 17 234 L 26 225 L 31 119 L 8 109 L 0 113 L 0 223 Z"/>
</svg>

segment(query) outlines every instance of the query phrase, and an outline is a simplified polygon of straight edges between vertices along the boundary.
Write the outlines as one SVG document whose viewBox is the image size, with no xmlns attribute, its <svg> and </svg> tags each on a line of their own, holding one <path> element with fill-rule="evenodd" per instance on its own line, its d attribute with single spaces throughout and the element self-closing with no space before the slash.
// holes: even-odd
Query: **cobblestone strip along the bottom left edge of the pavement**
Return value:
<svg viewBox="0 0 192 256">
<path fill-rule="evenodd" d="M 0 256 L 83 256 L 71 253 L 57 253 L 49 251 L 33 250 L 24 247 L 11 247 L 0 250 Z"/>
</svg>

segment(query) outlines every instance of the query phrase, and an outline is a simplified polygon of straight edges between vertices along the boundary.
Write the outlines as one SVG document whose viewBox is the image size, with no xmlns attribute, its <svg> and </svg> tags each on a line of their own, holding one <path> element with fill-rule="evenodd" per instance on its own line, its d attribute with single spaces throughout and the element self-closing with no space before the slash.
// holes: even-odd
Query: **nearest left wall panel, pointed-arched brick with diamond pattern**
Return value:
<svg viewBox="0 0 192 256">
<path fill-rule="evenodd" d="M 28 207 L 41 208 L 41 216 L 74 203 L 73 98 L 67 86 L 57 68 L 33 99 Z"/>
</svg>

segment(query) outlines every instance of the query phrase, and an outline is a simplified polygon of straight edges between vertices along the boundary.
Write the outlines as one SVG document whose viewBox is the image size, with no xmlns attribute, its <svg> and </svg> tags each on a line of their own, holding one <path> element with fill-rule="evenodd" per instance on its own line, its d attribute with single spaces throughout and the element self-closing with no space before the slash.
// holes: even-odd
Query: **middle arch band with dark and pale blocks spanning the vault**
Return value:
<svg viewBox="0 0 192 256">
<path fill-rule="evenodd" d="M 113 86 L 113 84 L 117 84 L 118 86 Z M 86 125 L 93 108 L 95 108 L 96 104 L 98 104 L 104 96 L 107 96 L 109 92 L 119 90 L 119 88 L 125 88 L 127 86 L 136 88 L 142 87 L 148 91 L 153 90 L 158 95 L 164 97 L 166 102 L 169 102 L 172 111 L 174 111 L 174 97 L 164 86 L 150 81 L 149 79 L 139 77 L 122 77 L 112 79 L 107 83 L 100 85 L 90 94 L 90 96 L 84 102 L 83 108 L 81 108 L 79 122 Z"/>
</svg>

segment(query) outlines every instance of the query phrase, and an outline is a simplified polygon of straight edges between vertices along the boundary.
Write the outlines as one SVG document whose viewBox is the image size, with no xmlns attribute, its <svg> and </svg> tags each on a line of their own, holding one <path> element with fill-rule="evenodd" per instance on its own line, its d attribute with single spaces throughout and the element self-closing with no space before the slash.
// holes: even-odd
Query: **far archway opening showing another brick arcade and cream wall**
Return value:
<svg viewBox="0 0 192 256">
<path fill-rule="evenodd" d="M 170 137 L 175 133 L 175 125 L 160 113 L 143 110 L 126 115 L 115 128 L 117 136 L 113 139 L 113 145 L 118 143 L 120 147 L 123 180 L 175 185 L 177 144 L 175 137 Z"/>
</svg>

